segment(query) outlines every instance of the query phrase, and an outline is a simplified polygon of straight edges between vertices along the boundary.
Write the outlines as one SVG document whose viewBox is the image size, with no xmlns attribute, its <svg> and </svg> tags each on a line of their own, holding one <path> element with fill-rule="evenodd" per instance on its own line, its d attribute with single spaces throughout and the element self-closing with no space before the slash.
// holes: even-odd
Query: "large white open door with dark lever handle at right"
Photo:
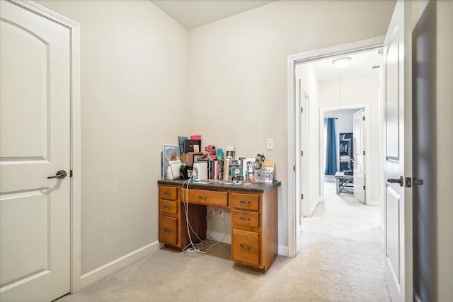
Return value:
<svg viewBox="0 0 453 302">
<path fill-rule="evenodd" d="M 411 175 L 410 74 L 405 78 L 411 64 L 408 2 L 397 1 L 384 45 L 384 266 L 394 302 L 413 300 L 411 191 L 404 187 L 404 175 Z"/>
</svg>

